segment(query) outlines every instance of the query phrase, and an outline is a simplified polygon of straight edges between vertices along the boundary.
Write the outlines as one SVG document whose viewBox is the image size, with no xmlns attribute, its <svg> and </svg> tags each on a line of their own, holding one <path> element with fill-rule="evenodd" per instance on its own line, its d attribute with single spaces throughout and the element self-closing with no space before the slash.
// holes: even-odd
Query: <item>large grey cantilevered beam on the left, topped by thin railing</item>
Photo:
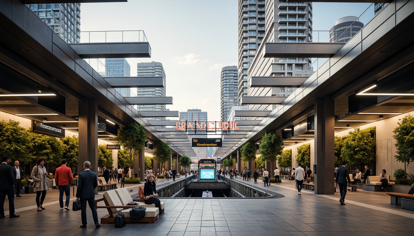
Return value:
<svg viewBox="0 0 414 236">
<path fill-rule="evenodd" d="M 147 42 L 133 43 L 69 43 L 82 58 L 151 57 Z"/>
</svg>

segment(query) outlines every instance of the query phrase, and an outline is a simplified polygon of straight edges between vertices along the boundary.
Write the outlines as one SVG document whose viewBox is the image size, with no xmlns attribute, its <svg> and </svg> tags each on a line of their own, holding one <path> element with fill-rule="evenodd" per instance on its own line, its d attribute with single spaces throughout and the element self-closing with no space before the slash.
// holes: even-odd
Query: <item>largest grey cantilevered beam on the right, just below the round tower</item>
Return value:
<svg viewBox="0 0 414 236">
<path fill-rule="evenodd" d="M 325 57 L 335 55 L 345 43 L 265 43 L 264 57 Z"/>
</svg>

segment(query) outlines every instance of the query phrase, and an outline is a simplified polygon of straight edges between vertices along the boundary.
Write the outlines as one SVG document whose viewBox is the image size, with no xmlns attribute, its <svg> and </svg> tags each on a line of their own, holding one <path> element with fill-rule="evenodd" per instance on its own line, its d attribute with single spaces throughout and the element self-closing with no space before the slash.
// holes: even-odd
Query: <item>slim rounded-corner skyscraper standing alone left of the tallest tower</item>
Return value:
<svg viewBox="0 0 414 236">
<path fill-rule="evenodd" d="M 221 121 L 229 119 L 231 107 L 237 106 L 237 67 L 221 68 Z"/>
</svg>

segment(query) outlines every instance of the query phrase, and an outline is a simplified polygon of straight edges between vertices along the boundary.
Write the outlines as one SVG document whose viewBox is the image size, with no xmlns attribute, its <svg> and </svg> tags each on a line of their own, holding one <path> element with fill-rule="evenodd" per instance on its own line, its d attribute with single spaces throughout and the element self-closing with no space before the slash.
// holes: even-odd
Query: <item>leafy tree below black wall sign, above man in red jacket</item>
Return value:
<svg viewBox="0 0 414 236">
<path fill-rule="evenodd" d="M 52 136 L 31 133 L 31 154 L 34 159 L 45 159 L 47 164 L 59 164 L 63 155 L 62 142 Z"/>
</svg>

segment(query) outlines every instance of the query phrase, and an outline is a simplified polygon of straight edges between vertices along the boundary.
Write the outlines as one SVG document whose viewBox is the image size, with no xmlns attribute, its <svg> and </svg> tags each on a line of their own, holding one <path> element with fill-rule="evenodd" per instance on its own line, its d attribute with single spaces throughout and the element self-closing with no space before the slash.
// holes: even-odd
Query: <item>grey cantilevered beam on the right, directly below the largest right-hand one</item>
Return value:
<svg viewBox="0 0 414 236">
<path fill-rule="evenodd" d="M 307 76 L 252 76 L 250 88 L 299 88 L 308 78 Z"/>
</svg>

